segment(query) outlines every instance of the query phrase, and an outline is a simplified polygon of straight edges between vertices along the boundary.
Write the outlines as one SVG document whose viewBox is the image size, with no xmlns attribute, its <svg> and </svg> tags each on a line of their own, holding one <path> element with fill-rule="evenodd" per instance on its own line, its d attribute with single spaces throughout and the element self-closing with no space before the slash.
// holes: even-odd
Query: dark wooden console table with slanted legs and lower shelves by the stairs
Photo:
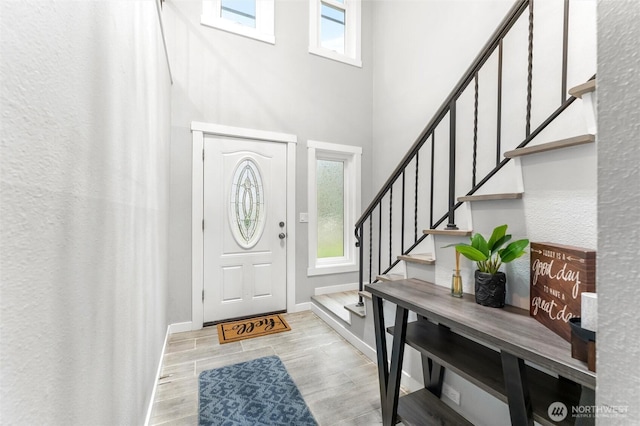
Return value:
<svg viewBox="0 0 640 426">
<path fill-rule="evenodd" d="M 373 301 L 385 426 L 394 425 L 397 416 L 416 425 L 471 424 L 440 400 L 445 368 L 506 402 L 513 425 L 595 423 L 573 417 L 572 406 L 595 405 L 596 374 L 571 358 L 571 345 L 528 311 L 481 306 L 473 295 L 451 297 L 448 289 L 415 279 L 373 283 L 366 290 Z M 384 300 L 397 306 L 395 326 L 388 330 Z M 408 323 L 409 311 L 417 321 Z M 385 332 L 393 335 L 390 365 Z M 399 397 L 405 344 L 422 355 L 425 388 Z M 562 421 L 549 418 L 554 402 L 567 408 Z"/>
</svg>

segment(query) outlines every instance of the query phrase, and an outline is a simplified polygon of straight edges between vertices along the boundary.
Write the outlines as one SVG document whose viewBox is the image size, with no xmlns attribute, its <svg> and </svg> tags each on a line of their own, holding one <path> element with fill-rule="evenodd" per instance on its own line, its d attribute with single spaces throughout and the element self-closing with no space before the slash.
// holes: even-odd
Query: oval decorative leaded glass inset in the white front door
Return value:
<svg viewBox="0 0 640 426">
<path fill-rule="evenodd" d="M 264 188 L 260 170 L 250 158 L 236 166 L 231 181 L 231 230 L 238 244 L 253 247 L 264 230 Z"/>
</svg>

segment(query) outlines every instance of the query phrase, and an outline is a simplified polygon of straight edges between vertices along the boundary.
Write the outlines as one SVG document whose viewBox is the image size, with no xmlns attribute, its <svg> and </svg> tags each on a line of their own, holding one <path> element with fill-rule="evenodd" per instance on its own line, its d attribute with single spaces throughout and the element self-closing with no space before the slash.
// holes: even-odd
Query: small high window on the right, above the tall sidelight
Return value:
<svg viewBox="0 0 640 426">
<path fill-rule="evenodd" d="M 309 2 L 309 52 L 361 67 L 360 0 Z"/>
</svg>

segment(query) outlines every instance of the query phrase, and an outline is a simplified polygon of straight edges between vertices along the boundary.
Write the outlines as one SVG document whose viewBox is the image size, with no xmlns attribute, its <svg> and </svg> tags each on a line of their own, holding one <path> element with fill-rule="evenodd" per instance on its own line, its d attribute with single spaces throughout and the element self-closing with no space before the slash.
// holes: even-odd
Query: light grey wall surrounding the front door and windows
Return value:
<svg viewBox="0 0 640 426">
<path fill-rule="evenodd" d="M 276 1 L 271 45 L 200 24 L 202 2 L 165 4 L 174 64 L 171 171 L 171 322 L 191 320 L 192 121 L 298 136 L 296 216 L 307 211 L 307 140 L 363 148 L 363 200 L 370 198 L 372 56 L 370 5 L 362 8 L 363 67 L 308 53 L 308 2 Z M 291 224 L 290 224 L 291 225 Z M 307 277 L 307 224 L 296 223 L 296 302 L 356 273 Z M 187 253 L 187 255 L 185 255 Z"/>
</svg>

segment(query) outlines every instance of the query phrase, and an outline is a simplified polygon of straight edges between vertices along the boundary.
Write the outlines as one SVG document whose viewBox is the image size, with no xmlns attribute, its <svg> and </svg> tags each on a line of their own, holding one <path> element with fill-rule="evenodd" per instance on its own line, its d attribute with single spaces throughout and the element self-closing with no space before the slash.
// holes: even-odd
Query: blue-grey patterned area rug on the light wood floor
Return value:
<svg viewBox="0 0 640 426">
<path fill-rule="evenodd" d="M 203 371 L 198 382 L 200 426 L 317 425 L 277 356 Z"/>
</svg>

